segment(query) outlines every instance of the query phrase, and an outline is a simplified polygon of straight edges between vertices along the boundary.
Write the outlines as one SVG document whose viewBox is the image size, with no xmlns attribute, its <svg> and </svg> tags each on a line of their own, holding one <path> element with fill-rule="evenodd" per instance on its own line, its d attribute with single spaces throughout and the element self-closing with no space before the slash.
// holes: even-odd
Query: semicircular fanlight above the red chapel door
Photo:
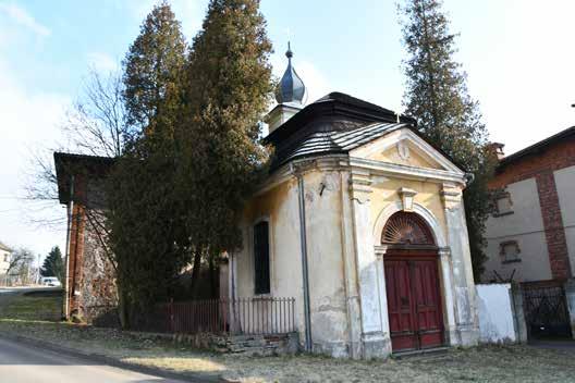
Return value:
<svg viewBox="0 0 575 383">
<path fill-rule="evenodd" d="M 435 245 L 429 226 L 413 212 L 397 211 L 391 215 L 381 233 L 383 245 Z"/>
</svg>

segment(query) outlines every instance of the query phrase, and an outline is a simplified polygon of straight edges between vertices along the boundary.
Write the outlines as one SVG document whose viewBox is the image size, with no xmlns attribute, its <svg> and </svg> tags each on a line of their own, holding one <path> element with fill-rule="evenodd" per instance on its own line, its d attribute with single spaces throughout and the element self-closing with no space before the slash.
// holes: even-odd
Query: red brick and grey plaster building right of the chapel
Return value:
<svg viewBox="0 0 575 383">
<path fill-rule="evenodd" d="M 500 162 L 484 281 L 559 284 L 575 270 L 575 126 Z"/>
</svg>

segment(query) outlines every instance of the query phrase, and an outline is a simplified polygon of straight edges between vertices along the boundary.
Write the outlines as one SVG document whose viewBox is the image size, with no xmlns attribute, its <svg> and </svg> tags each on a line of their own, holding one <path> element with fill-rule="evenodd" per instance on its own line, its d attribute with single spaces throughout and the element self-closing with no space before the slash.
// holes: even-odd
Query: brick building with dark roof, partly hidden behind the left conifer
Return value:
<svg viewBox="0 0 575 383">
<path fill-rule="evenodd" d="M 54 153 L 60 203 L 68 209 L 63 281 L 66 319 L 101 320 L 117 305 L 113 265 L 102 246 L 103 196 L 101 177 L 112 159 Z"/>
</svg>

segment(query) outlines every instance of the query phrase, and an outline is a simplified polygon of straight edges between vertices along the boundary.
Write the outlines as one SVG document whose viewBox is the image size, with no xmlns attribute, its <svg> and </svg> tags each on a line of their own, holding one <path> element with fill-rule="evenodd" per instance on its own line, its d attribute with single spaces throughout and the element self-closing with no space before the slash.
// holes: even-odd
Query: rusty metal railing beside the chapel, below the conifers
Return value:
<svg viewBox="0 0 575 383">
<path fill-rule="evenodd" d="M 135 330 L 179 334 L 290 333 L 296 331 L 295 298 L 170 301 L 158 305 Z"/>
</svg>

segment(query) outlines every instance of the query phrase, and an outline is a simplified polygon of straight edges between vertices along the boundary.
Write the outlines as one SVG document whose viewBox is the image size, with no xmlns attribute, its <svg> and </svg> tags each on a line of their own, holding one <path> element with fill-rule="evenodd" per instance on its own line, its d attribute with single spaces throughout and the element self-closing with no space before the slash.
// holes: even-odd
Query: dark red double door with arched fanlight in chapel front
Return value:
<svg viewBox="0 0 575 383">
<path fill-rule="evenodd" d="M 381 233 L 388 316 L 393 351 L 443 344 L 438 247 L 431 230 L 414 212 L 390 217 Z"/>
</svg>

